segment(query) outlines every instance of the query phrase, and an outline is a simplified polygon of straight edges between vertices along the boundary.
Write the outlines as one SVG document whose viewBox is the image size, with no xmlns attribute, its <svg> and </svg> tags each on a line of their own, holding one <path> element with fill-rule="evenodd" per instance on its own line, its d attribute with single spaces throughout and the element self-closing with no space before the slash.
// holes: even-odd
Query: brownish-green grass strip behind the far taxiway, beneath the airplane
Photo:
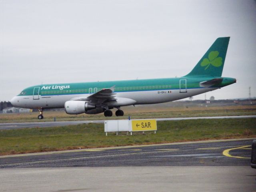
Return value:
<svg viewBox="0 0 256 192">
<path fill-rule="evenodd" d="M 18 113 L 18 114 L 0 114 L 0 123 L 13 122 L 47 122 L 54 121 L 78 121 L 78 120 L 113 120 L 113 119 L 148 119 L 148 118 L 174 118 L 174 117 L 203 117 L 203 116 L 241 116 L 256 115 L 256 105 L 252 106 L 179 106 L 179 107 L 162 107 L 153 106 L 128 106 L 122 108 L 124 116 L 105 117 L 104 114 L 88 115 L 68 115 L 64 111 L 45 111 L 44 119 L 38 120 L 38 112 Z M 113 110 L 114 112 L 114 110 Z M 114 114 L 114 113 L 113 113 Z"/>
</svg>

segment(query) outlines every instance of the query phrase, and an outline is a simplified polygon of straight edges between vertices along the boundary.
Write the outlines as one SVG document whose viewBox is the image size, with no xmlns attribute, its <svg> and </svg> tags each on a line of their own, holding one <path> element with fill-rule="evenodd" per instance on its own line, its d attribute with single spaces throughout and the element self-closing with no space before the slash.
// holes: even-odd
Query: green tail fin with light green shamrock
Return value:
<svg viewBox="0 0 256 192">
<path fill-rule="evenodd" d="M 230 37 L 220 37 L 212 44 L 194 69 L 186 76 L 221 77 Z"/>
</svg>

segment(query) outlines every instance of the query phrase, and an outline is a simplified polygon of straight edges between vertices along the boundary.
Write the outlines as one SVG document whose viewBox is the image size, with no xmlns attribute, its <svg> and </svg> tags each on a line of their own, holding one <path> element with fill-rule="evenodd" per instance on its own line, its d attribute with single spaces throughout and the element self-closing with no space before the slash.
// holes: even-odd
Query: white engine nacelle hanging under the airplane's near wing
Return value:
<svg viewBox="0 0 256 192">
<path fill-rule="evenodd" d="M 88 110 L 95 109 L 95 105 L 88 104 L 86 101 L 66 101 L 65 110 L 67 114 L 81 114 Z"/>
</svg>

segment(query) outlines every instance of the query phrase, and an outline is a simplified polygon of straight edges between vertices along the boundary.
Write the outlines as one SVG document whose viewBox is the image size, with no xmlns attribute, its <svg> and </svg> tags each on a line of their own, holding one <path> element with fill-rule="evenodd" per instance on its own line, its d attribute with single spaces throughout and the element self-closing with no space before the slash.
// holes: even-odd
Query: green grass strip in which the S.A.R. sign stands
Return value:
<svg viewBox="0 0 256 192">
<path fill-rule="evenodd" d="M 256 137 L 256 118 L 158 122 L 158 131 L 105 136 L 104 124 L 0 131 L 0 154 Z"/>
</svg>

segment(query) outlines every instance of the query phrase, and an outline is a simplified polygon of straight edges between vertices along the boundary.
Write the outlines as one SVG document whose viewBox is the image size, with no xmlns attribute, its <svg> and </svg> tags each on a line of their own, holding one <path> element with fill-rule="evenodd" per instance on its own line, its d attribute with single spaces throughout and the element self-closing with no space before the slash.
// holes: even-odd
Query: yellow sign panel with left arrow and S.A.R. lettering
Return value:
<svg viewBox="0 0 256 192">
<path fill-rule="evenodd" d="M 144 119 L 144 120 L 132 120 L 132 131 L 155 131 L 156 120 Z"/>
</svg>

